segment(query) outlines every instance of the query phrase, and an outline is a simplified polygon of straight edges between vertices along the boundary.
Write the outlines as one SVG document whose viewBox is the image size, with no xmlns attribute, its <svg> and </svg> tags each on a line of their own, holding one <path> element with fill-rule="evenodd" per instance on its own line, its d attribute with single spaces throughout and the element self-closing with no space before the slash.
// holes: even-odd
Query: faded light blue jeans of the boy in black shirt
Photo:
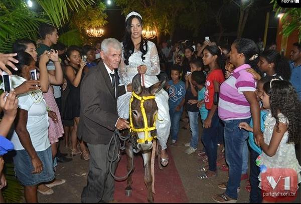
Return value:
<svg viewBox="0 0 301 204">
<path fill-rule="evenodd" d="M 190 131 L 191 131 L 191 140 L 190 140 L 190 146 L 192 148 L 197 148 L 198 146 L 198 141 L 199 141 L 199 126 L 198 126 L 198 117 L 199 113 L 198 112 L 188 112 L 188 117 L 189 117 L 189 125 L 190 125 Z"/>
</svg>

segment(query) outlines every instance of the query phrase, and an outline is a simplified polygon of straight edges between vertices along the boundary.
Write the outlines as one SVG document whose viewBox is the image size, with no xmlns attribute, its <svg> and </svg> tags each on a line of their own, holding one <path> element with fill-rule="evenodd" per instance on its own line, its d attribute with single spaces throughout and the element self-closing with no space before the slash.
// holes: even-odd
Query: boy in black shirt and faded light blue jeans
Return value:
<svg viewBox="0 0 301 204">
<path fill-rule="evenodd" d="M 189 124 L 190 124 L 190 131 L 192 134 L 191 140 L 188 143 L 185 143 L 184 145 L 188 147 L 185 150 L 185 153 L 192 154 L 197 150 L 198 141 L 199 141 L 199 126 L 198 126 L 198 117 L 199 117 L 199 108 L 197 104 L 189 104 L 188 101 L 193 99 L 198 99 L 198 89 L 197 87 L 192 83 L 192 73 L 195 71 L 201 71 L 203 68 L 203 63 L 199 59 L 194 59 L 190 62 L 190 71 L 191 73 L 187 73 L 185 75 L 185 87 L 187 89 L 186 95 L 185 95 L 185 101 L 186 103 L 186 110 L 188 112 L 189 117 Z"/>
</svg>

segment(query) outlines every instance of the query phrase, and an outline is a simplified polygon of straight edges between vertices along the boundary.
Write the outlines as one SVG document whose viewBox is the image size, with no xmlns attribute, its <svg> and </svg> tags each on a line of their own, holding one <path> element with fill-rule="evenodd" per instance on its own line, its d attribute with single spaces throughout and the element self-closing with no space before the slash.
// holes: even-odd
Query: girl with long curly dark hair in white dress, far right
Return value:
<svg viewBox="0 0 301 204">
<path fill-rule="evenodd" d="M 297 179 L 295 186 L 290 186 L 290 190 L 297 190 L 297 183 L 301 182 L 301 166 L 299 165 L 294 144 L 300 140 L 301 117 L 300 101 L 291 84 L 287 81 L 271 80 L 263 86 L 261 100 L 263 107 L 269 109 L 264 122 L 263 137 L 257 137 L 256 143 L 261 147 L 262 154 L 257 157 L 256 164 L 260 166 L 259 187 L 263 192 L 271 192 L 267 176 L 262 173 L 268 172 L 269 175 L 279 175 L 279 169 L 283 176 L 291 176 L 290 170 L 296 172 Z M 277 179 L 276 179 L 277 182 Z M 280 182 L 279 182 L 280 185 Z M 277 184 L 278 186 L 278 184 Z M 281 186 L 280 186 L 281 187 Z M 284 186 L 282 186 L 284 189 Z M 267 193 L 262 202 L 287 201 L 285 196 L 274 196 Z"/>
</svg>

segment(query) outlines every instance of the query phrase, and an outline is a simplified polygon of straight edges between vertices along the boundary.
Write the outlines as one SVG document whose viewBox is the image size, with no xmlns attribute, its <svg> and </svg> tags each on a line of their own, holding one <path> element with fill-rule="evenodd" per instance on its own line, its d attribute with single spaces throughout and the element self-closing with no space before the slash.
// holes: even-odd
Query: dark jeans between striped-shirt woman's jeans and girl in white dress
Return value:
<svg viewBox="0 0 301 204">
<path fill-rule="evenodd" d="M 250 184 L 251 184 L 251 192 L 250 192 L 250 202 L 251 203 L 261 203 L 261 189 L 258 187 L 259 180 L 258 175 L 260 173 L 259 166 L 256 165 L 256 158 L 259 154 L 254 151 L 252 148 L 251 150 L 251 161 L 250 161 Z"/>
</svg>

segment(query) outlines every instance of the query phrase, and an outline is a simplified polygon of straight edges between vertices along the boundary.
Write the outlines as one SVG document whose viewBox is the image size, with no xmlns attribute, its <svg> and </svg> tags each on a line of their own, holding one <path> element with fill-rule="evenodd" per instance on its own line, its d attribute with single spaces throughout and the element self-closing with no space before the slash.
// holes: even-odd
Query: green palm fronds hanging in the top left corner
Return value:
<svg viewBox="0 0 301 204">
<path fill-rule="evenodd" d="M 19 38 L 36 40 L 38 28 L 43 22 L 60 29 L 69 22 L 70 14 L 85 11 L 95 2 L 94 0 L 37 0 L 35 3 L 36 10 L 42 12 L 29 9 L 24 0 L 1 0 L 0 52 L 11 52 L 12 44 Z M 74 33 L 70 33 L 74 36 Z"/>
</svg>

